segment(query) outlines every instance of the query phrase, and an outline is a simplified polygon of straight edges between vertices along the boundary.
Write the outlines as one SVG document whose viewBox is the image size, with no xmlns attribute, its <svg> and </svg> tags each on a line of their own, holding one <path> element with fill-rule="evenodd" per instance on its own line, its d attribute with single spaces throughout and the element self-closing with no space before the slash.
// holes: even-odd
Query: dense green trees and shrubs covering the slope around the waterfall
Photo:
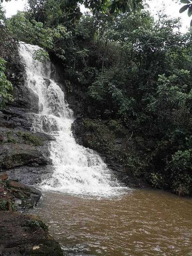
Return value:
<svg viewBox="0 0 192 256">
<path fill-rule="evenodd" d="M 28 2 L 26 12 L 9 20 L 0 9 L 6 30 L 0 40 L 9 34 L 38 44 L 45 51 L 34 58 L 59 63 L 82 105 L 84 125 L 96 134 L 88 145 L 156 188 L 192 195 L 192 32 L 181 34 L 179 20 L 165 15 L 154 21 L 141 1 L 116 1 L 110 9 L 103 1 L 103 12 L 97 1 L 84 1 L 93 9 L 84 15 L 77 1 Z M 0 59 L 6 82 L 3 65 Z M 132 146 L 117 151 L 117 133 Z"/>
</svg>

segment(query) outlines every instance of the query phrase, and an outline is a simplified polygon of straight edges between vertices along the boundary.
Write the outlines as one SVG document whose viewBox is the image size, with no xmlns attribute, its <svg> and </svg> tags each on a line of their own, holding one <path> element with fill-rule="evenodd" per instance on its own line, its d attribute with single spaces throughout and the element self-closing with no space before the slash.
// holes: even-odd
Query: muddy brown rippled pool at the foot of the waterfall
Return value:
<svg viewBox="0 0 192 256">
<path fill-rule="evenodd" d="M 192 199 L 154 190 L 99 198 L 42 191 L 35 209 L 64 255 L 192 255 Z"/>
</svg>

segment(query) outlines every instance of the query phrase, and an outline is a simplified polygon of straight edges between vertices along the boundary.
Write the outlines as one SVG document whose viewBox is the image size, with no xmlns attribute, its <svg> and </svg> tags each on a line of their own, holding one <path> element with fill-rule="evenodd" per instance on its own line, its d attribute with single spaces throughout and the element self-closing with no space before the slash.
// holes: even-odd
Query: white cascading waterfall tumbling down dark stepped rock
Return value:
<svg viewBox="0 0 192 256">
<path fill-rule="evenodd" d="M 73 111 L 68 107 L 64 92 L 50 79 L 51 63 L 43 64 L 32 58 L 32 53 L 38 49 L 34 45 L 20 45 L 26 85 L 39 97 L 39 114 L 34 118 L 32 130 L 56 137 L 50 144 L 54 173 L 41 187 L 70 193 L 112 195 L 119 183 L 99 155 L 76 144 L 71 132 Z"/>
</svg>

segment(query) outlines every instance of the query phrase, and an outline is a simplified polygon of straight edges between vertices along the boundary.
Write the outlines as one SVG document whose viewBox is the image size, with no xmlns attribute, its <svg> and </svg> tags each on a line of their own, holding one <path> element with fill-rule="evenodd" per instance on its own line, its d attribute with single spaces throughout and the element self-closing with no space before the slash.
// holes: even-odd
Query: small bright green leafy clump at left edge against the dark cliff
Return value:
<svg viewBox="0 0 192 256">
<path fill-rule="evenodd" d="M 5 107 L 6 101 L 12 101 L 13 97 L 10 91 L 13 90 L 12 84 L 5 75 L 6 61 L 0 57 L 0 108 Z"/>
</svg>

